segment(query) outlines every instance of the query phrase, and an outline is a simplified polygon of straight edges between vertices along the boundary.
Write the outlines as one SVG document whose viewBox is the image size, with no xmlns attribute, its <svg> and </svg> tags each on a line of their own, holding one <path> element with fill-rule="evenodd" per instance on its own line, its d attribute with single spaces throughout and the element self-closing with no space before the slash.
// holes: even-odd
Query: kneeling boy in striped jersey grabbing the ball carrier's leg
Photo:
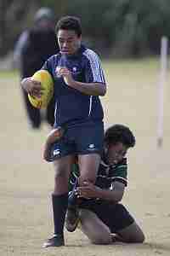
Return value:
<svg viewBox="0 0 170 256">
<path fill-rule="evenodd" d="M 82 232 L 95 244 L 112 241 L 143 242 L 144 234 L 134 218 L 121 203 L 127 186 L 127 149 L 133 147 L 135 137 L 125 125 L 112 125 L 105 132 L 104 153 L 99 165 L 96 183 L 77 186 L 77 164 L 70 177 L 69 207 L 65 219 L 68 231 L 80 223 Z M 75 189 L 75 184 L 77 189 Z M 77 205 L 72 198 L 77 197 Z"/>
</svg>

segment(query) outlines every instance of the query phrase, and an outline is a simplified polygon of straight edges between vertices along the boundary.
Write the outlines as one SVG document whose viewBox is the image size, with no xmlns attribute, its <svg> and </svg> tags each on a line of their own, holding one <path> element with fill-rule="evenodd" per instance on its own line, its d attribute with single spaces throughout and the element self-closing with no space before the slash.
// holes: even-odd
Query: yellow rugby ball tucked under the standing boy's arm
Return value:
<svg viewBox="0 0 170 256">
<path fill-rule="evenodd" d="M 29 101 L 34 108 L 47 108 L 48 103 L 54 95 L 54 80 L 47 70 L 38 70 L 32 76 L 32 79 L 41 82 L 42 84 L 42 96 L 31 96 L 28 94 Z"/>
</svg>

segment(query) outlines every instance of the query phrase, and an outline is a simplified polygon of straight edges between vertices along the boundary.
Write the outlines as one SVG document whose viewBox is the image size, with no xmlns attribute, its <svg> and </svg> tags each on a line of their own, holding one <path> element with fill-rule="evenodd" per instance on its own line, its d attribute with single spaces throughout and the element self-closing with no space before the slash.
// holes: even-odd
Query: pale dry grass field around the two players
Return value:
<svg viewBox="0 0 170 256">
<path fill-rule="evenodd" d="M 129 151 L 123 203 L 144 230 L 142 245 L 94 246 L 77 230 L 65 232 L 66 246 L 42 248 L 53 232 L 50 194 L 53 166 L 42 160 L 48 127 L 28 128 L 17 73 L 0 73 L 0 255 L 152 256 L 170 255 L 170 79 L 164 97 L 164 137 L 156 147 L 159 61 L 104 62 L 108 82 L 105 127 L 129 125 L 136 148 Z"/>
</svg>

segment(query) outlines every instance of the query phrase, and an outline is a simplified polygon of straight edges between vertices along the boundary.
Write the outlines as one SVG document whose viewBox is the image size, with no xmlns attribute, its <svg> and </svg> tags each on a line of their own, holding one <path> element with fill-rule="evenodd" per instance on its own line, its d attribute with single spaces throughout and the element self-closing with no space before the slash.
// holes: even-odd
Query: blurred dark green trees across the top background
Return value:
<svg viewBox="0 0 170 256">
<path fill-rule="evenodd" d="M 105 56 L 157 55 L 161 37 L 170 38 L 169 0 L 1 0 L 0 55 L 14 48 L 42 6 L 54 9 L 56 21 L 80 17 L 84 41 Z"/>
</svg>

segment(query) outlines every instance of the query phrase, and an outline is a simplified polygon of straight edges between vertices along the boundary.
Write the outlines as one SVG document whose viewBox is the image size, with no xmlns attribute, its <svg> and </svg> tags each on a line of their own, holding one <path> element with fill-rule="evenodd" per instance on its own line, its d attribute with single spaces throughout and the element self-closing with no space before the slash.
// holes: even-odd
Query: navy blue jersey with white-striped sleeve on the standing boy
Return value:
<svg viewBox="0 0 170 256">
<path fill-rule="evenodd" d="M 105 84 L 99 56 L 93 50 L 81 46 L 75 55 L 51 56 L 42 69 L 48 70 L 54 79 L 55 125 L 75 125 L 90 120 L 102 120 L 104 113 L 99 96 L 88 96 L 71 88 L 57 74 L 59 67 L 67 67 L 73 79 L 82 83 Z"/>
</svg>

